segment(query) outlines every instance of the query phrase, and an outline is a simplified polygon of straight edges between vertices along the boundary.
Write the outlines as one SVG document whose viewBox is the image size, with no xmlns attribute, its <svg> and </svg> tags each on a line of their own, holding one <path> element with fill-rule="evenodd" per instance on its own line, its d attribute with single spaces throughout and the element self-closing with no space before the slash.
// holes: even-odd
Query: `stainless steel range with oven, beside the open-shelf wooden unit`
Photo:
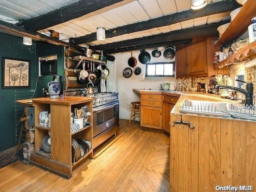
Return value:
<svg viewBox="0 0 256 192">
<path fill-rule="evenodd" d="M 93 97 L 93 148 L 119 130 L 119 99 L 117 92 L 85 94 L 86 90 L 66 91 L 66 96 Z"/>
</svg>

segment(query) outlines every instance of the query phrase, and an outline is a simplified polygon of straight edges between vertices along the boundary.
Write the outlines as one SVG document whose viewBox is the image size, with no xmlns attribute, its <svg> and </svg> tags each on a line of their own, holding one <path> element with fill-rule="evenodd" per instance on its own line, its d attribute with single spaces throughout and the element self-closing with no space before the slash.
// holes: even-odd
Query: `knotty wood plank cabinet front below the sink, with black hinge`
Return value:
<svg viewBox="0 0 256 192">
<path fill-rule="evenodd" d="M 182 115 L 170 128 L 170 191 L 256 187 L 256 122 Z M 171 123 L 180 114 L 171 115 Z"/>
</svg>

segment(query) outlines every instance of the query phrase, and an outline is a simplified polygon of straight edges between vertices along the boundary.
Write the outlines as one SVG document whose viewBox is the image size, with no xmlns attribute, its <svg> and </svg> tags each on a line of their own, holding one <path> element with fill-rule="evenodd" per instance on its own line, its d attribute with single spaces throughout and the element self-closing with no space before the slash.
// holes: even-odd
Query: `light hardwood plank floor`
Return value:
<svg viewBox="0 0 256 192">
<path fill-rule="evenodd" d="M 120 132 L 78 166 L 69 180 L 16 161 L 0 169 L 5 192 L 168 192 L 170 136 L 120 120 Z"/>
</svg>

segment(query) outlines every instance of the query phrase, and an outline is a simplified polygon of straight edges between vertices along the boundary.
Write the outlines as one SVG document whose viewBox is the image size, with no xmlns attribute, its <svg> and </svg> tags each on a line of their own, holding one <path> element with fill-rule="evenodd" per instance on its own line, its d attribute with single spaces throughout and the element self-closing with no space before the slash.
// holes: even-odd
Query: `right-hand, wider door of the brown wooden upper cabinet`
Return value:
<svg viewBox="0 0 256 192">
<path fill-rule="evenodd" d="M 206 42 L 200 42 L 188 47 L 188 74 L 207 73 Z"/>
</svg>

